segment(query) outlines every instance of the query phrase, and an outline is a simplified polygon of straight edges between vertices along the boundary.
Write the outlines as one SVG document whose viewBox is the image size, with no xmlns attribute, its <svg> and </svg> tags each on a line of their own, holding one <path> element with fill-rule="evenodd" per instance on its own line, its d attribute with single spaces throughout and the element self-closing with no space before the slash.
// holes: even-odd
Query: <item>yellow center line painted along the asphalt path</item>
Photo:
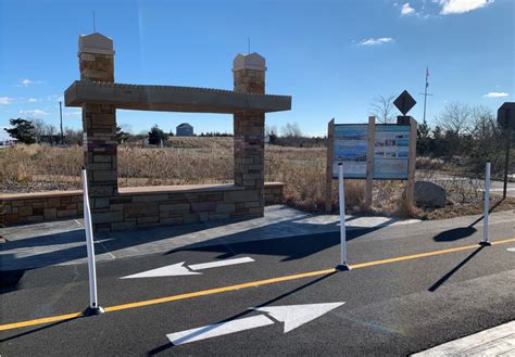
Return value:
<svg viewBox="0 0 515 357">
<path fill-rule="evenodd" d="M 503 244 L 503 243 L 510 243 L 510 242 L 515 242 L 515 238 L 500 240 L 500 241 L 493 241 L 493 242 L 490 242 L 490 243 L 492 245 L 495 245 L 495 244 Z M 412 259 L 425 258 L 425 257 L 430 257 L 430 256 L 436 256 L 436 255 L 442 255 L 442 254 L 449 254 L 449 253 L 461 252 L 461 251 L 466 251 L 466 250 L 473 250 L 473 248 L 477 248 L 479 246 L 480 246 L 479 244 L 463 245 L 463 246 L 451 247 L 451 248 L 447 248 L 447 250 L 426 252 L 426 253 L 419 253 L 419 254 L 412 254 L 412 255 L 404 255 L 404 256 L 399 256 L 399 257 L 388 258 L 388 259 L 381 259 L 381 260 L 359 263 L 359 264 L 350 265 L 350 267 L 352 269 L 360 269 L 360 268 L 373 267 L 373 266 L 391 264 L 391 263 L 397 263 L 397 262 L 412 260 Z M 335 271 L 338 271 L 337 268 L 309 271 L 309 272 L 302 272 L 302 273 L 297 273 L 297 275 L 291 275 L 291 276 L 284 276 L 284 277 L 265 279 L 265 280 L 251 281 L 251 282 L 246 282 L 246 283 L 241 283 L 241 284 L 201 290 L 201 291 L 191 292 L 191 293 L 185 293 L 185 294 L 178 294 L 178 295 L 146 299 L 146 301 L 141 301 L 141 302 L 108 306 L 104 309 L 105 309 L 105 313 L 112 313 L 112 311 L 125 310 L 125 309 L 130 309 L 130 308 L 136 308 L 136 307 L 169 303 L 169 302 L 175 302 L 175 301 L 186 299 L 186 298 L 192 298 L 192 297 L 198 297 L 198 296 L 218 294 L 218 293 L 224 293 L 224 292 L 228 292 L 228 291 L 236 291 L 236 290 L 240 290 L 240 289 L 274 284 L 274 283 L 278 283 L 278 282 L 282 282 L 282 281 L 290 281 L 290 280 L 297 280 L 297 279 L 302 279 L 302 278 L 324 276 L 324 275 L 328 275 L 328 273 L 331 273 L 331 272 L 335 272 Z M 83 313 L 73 313 L 73 314 L 58 315 L 58 316 L 45 317 L 45 318 L 27 320 L 27 321 L 5 323 L 5 324 L 0 324 L 0 331 L 20 329 L 20 328 L 25 328 L 25 327 L 29 327 L 29 326 L 43 324 L 43 323 L 50 323 L 50 322 L 58 322 L 58 321 L 63 321 L 63 320 L 70 320 L 70 319 L 74 319 L 74 318 L 78 318 L 78 317 L 83 317 L 83 316 L 84 316 Z"/>
</svg>

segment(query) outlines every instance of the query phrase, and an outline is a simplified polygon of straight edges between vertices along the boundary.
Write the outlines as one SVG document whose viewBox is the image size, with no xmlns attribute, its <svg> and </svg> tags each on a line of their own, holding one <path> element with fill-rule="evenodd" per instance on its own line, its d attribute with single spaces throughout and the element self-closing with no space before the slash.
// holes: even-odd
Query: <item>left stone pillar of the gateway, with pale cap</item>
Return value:
<svg viewBox="0 0 515 357">
<path fill-rule="evenodd" d="M 81 35 L 78 58 L 80 80 L 114 82 L 113 40 L 98 33 Z M 110 200 L 118 190 L 116 109 L 113 105 L 84 104 L 83 128 L 92 222 L 98 230 L 99 224 L 109 218 Z"/>
</svg>

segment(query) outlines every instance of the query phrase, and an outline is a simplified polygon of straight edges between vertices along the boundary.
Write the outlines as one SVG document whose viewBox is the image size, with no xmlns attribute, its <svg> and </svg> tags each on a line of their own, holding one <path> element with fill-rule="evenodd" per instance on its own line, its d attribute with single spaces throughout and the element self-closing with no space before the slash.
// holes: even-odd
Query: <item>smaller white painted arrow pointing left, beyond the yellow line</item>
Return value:
<svg viewBox="0 0 515 357">
<path fill-rule="evenodd" d="M 187 267 L 184 265 L 186 262 L 180 262 L 180 263 L 168 265 L 166 267 L 161 267 L 158 269 L 138 272 L 131 276 L 122 277 L 121 279 L 198 276 L 198 275 L 201 275 L 202 272 L 197 272 L 192 270 L 211 269 L 211 268 L 216 268 L 216 267 L 224 267 L 228 265 L 236 265 L 236 264 L 243 264 L 243 263 L 251 263 L 251 262 L 254 262 L 254 259 L 248 256 L 243 258 L 193 264 Z"/>
</svg>

